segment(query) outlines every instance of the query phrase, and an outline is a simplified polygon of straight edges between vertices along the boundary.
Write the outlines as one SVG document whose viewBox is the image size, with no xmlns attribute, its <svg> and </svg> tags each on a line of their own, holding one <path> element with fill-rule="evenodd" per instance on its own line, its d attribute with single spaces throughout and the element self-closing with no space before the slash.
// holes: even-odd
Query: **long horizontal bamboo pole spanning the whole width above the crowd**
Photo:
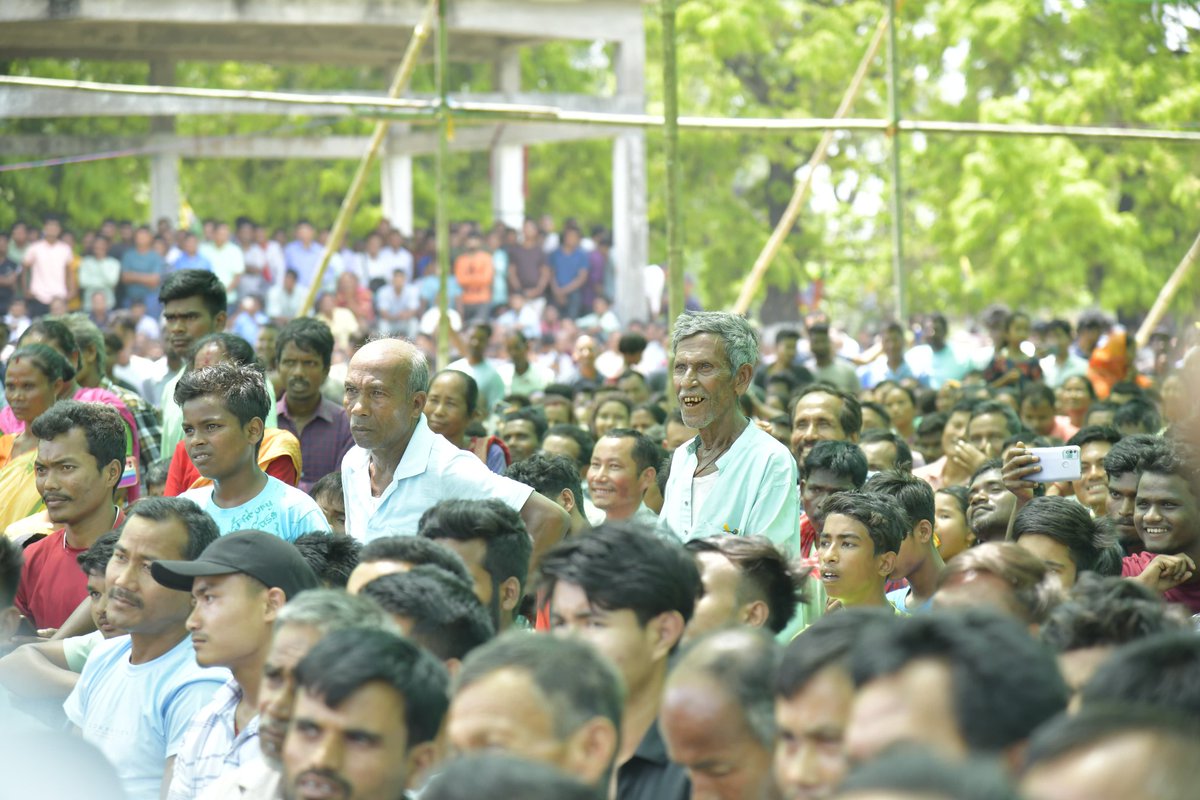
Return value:
<svg viewBox="0 0 1200 800">
<path fill-rule="evenodd" d="M 192 89 L 187 86 L 138 86 L 89 80 L 58 80 L 0 76 L 0 86 L 20 85 L 41 89 L 92 91 L 114 95 L 167 95 L 210 100 L 265 101 L 277 103 L 280 114 L 300 113 L 308 106 L 346 106 L 368 119 L 398 119 L 415 125 L 434 124 L 439 101 L 412 98 L 380 98 L 372 95 L 301 95 L 295 92 L 242 91 L 230 89 Z M 622 128 L 661 128 L 665 120 L 654 114 L 610 114 L 600 112 L 564 112 L 550 106 L 527 106 L 482 102 L 451 102 L 451 113 L 463 121 L 560 122 Z M 893 126 L 890 120 L 860 118 L 709 118 L 680 116 L 680 131 L 712 133 L 775 133 L 792 134 L 805 131 L 878 131 L 895 127 L 901 133 L 1067 137 L 1074 139 L 1123 139 L 1200 144 L 1200 132 L 1168 128 L 1100 127 L 1086 125 L 1028 125 L 1003 122 L 955 122 L 946 120 L 902 120 Z"/>
</svg>

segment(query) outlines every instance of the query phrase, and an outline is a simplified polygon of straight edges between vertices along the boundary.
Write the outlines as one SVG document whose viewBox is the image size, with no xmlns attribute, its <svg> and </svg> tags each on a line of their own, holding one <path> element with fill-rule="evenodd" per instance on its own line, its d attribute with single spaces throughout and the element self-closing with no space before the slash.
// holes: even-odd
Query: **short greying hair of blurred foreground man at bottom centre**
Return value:
<svg viewBox="0 0 1200 800">
<path fill-rule="evenodd" d="M 595 717 L 620 729 L 625 688 L 613 664 L 587 642 L 509 631 L 463 660 L 454 693 L 503 669 L 529 674 L 548 700 L 557 736 L 566 739 Z"/>
</svg>

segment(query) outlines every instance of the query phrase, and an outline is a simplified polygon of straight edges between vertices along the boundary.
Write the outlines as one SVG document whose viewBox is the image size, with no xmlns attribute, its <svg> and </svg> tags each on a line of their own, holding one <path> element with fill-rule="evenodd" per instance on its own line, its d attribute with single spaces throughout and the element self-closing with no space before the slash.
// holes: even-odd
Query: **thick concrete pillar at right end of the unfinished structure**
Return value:
<svg viewBox="0 0 1200 800">
<path fill-rule="evenodd" d="M 617 94 L 637 98 L 646 106 L 646 38 L 622 40 L 613 64 Z M 616 270 L 617 314 L 624 321 L 649 315 L 642 270 L 649 260 L 649 229 L 646 211 L 646 133 L 620 133 L 612 144 L 612 264 Z"/>
</svg>

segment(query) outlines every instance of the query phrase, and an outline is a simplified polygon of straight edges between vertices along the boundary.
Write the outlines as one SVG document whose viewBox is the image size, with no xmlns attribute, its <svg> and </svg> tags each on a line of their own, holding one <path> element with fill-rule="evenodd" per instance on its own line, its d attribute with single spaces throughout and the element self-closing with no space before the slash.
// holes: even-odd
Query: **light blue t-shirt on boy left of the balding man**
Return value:
<svg viewBox="0 0 1200 800">
<path fill-rule="evenodd" d="M 263 530 L 294 542 L 314 530 L 332 533 L 316 500 L 272 475 L 266 476 L 266 486 L 258 497 L 233 509 L 222 509 L 212 500 L 214 488 L 210 483 L 179 497 L 191 500 L 212 517 L 222 536 L 235 530 Z"/>
</svg>

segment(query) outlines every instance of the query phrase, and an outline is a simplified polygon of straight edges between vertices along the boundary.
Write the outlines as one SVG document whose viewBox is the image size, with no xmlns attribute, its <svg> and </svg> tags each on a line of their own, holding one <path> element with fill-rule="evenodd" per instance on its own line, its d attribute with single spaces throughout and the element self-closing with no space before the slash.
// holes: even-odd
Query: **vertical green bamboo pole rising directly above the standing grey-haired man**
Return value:
<svg viewBox="0 0 1200 800">
<path fill-rule="evenodd" d="M 679 206 L 679 76 L 676 59 L 676 0 L 662 0 L 662 134 L 666 151 L 667 336 L 683 313 L 683 213 Z M 674 395 L 667 393 L 672 399 Z"/>
</svg>

